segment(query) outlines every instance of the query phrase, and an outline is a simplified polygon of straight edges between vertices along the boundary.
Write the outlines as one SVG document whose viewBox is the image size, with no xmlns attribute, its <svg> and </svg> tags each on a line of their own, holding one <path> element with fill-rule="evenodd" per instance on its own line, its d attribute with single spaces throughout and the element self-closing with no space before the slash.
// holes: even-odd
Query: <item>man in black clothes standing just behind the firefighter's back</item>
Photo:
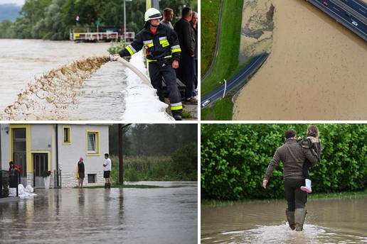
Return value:
<svg viewBox="0 0 367 244">
<path fill-rule="evenodd" d="M 192 11 L 186 7 L 182 9 L 182 17 L 174 25 L 174 30 L 179 36 L 179 42 L 182 49 L 180 67 L 177 76 L 186 85 L 185 101 L 188 104 L 198 104 L 198 100 L 193 97 L 194 79 L 195 79 L 195 33 L 191 27 L 190 21 Z"/>
</svg>

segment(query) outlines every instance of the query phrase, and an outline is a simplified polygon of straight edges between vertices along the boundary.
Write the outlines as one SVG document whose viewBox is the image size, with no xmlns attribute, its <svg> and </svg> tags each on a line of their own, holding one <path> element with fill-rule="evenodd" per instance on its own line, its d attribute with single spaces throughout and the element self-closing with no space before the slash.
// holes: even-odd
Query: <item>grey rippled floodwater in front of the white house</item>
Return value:
<svg viewBox="0 0 367 244">
<path fill-rule="evenodd" d="M 0 204 L 1 243 L 197 243 L 197 184 L 37 189 Z"/>
</svg>

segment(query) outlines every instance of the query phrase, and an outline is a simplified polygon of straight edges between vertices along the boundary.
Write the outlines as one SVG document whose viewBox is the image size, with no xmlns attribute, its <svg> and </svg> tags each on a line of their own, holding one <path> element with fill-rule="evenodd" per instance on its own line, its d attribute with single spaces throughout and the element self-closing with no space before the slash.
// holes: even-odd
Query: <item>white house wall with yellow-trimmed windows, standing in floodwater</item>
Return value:
<svg viewBox="0 0 367 244">
<path fill-rule="evenodd" d="M 79 157 L 84 158 L 85 179 L 87 183 L 87 174 L 97 174 L 96 184 L 103 184 L 103 166 L 105 162 L 105 153 L 109 153 L 109 135 L 107 125 L 68 125 L 71 128 L 70 145 L 63 145 L 63 125 L 58 124 L 58 161 L 59 168 L 62 170 L 61 183 L 62 187 L 75 187 L 78 185 L 76 179 L 76 167 Z M 0 124 L 1 136 L 1 168 L 9 169 L 9 134 L 4 128 L 9 124 Z M 87 155 L 87 131 L 100 132 L 100 151 L 98 155 Z M 56 169 L 56 138 L 54 124 L 32 124 L 31 126 L 31 150 L 32 151 L 48 151 L 50 152 L 50 187 L 55 187 L 53 170 Z M 27 182 L 33 185 L 33 174 L 27 174 Z"/>
</svg>

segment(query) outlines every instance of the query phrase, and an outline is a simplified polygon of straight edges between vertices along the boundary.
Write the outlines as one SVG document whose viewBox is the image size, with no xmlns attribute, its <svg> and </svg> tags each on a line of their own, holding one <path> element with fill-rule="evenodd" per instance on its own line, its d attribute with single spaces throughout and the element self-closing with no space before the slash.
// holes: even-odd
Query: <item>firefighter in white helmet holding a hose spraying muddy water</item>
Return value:
<svg viewBox="0 0 367 244">
<path fill-rule="evenodd" d="M 148 9 L 145 13 L 145 26 L 137 33 L 134 41 L 115 54 L 114 57 L 133 55 L 144 48 L 149 62 L 149 77 L 154 89 L 157 89 L 159 100 L 164 101 L 162 92 L 162 77 L 167 84 L 171 112 L 177 121 L 182 120 L 181 94 L 176 84 L 174 69 L 179 67 L 181 48 L 174 30 L 159 24 L 161 12 L 158 9 Z"/>
</svg>

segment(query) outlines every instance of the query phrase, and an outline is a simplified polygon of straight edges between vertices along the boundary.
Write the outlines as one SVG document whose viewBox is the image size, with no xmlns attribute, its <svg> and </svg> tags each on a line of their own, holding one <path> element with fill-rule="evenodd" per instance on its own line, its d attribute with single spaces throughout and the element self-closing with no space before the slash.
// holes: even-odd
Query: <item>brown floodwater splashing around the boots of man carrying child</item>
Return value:
<svg viewBox="0 0 367 244">
<path fill-rule="evenodd" d="M 286 223 L 285 201 L 201 207 L 201 243 L 367 243 L 367 198 L 307 202 L 303 232 Z"/>
</svg>

